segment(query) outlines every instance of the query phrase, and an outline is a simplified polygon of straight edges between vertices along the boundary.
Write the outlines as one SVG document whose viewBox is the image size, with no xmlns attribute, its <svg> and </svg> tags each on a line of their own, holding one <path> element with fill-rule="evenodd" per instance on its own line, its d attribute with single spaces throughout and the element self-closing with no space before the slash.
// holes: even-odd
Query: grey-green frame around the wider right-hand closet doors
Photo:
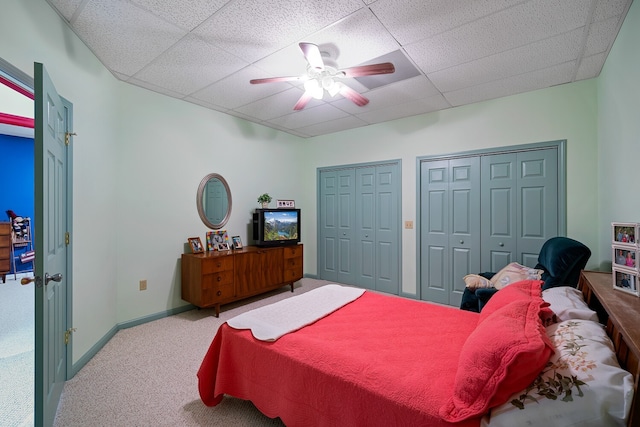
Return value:
<svg viewBox="0 0 640 427">
<path fill-rule="evenodd" d="M 422 162 L 433 160 L 451 160 L 460 157 L 487 156 L 494 154 L 511 154 L 522 151 L 535 151 L 544 148 L 556 148 L 558 150 L 558 236 L 567 235 L 567 140 L 536 142 L 532 144 L 509 145 L 505 147 L 490 147 L 479 150 L 462 151 L 457 153 L 440 154 L 435 156 L 416 157 L 416 297 L 422 299 L 420 283 L 422 277 L 420 237 L 422 224 L 420 223 L 420 195 Z"/>
</svg>

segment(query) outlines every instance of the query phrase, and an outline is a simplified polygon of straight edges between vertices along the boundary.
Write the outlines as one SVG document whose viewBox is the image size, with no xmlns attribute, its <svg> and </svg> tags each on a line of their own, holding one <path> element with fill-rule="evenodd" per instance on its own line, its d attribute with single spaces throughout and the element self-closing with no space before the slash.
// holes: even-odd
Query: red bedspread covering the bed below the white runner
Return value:
<svg viewBox="0 0 640 427">
<path fill-rule="evenodd" d="M 438 409 L 477 316 L 365 292 L 275 342 L 225 323 L 198 371 L 200 397 L 209 406 L 223 394 L 251 400 L 289 427 L 450 426 Z"/>
</svg>

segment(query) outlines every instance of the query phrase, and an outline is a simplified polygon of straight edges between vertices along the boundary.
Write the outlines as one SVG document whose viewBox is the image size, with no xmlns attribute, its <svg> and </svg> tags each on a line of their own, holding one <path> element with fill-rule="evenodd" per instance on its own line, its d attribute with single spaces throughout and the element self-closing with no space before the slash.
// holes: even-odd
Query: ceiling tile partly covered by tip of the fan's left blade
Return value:
<svg viewBox="0 0 640 427">
<path fill-rule="evenodd" d="M 291 85 L 286 82 L 250 84 L 249 80 L 260 76 L 260 73 L 261 71 L 256 67 L 248 66 L 192 94 L 192 97 L 212 105 L 234 109 L 291 88 Z"/>
</svg>

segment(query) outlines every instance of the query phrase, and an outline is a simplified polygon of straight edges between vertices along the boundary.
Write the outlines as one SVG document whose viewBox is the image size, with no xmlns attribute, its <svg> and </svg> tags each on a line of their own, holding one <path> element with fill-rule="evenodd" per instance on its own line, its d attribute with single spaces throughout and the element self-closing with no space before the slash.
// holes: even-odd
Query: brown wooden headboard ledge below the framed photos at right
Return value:
<svg viewBox="0 0 640 427">
<path fill-rule="evenodd" d="M 640 298 L 613 289 L 611 273 L 599 271 L 582 271 L 578 289 L 589 307 L 598 313 L 600 322 L 606 325 L 620 366 L 633 375 L 634 403 L 627 425 L 640 425 Z"/>
</svg>

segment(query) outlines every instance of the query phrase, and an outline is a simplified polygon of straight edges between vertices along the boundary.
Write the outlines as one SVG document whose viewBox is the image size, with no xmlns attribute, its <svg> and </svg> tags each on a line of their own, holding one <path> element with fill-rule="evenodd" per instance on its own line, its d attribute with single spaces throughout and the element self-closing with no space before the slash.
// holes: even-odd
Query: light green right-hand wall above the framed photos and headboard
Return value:
<svg viewBox="0 0 640 427">
<path fill-rule="evenodd" d="M 640 222 L 640 4 L 631 5 L 598 78 L 598 222 L 603 268 L 611 223 Z M 594 171 L 594 174 L 596 172 Z"/>
</svg>

